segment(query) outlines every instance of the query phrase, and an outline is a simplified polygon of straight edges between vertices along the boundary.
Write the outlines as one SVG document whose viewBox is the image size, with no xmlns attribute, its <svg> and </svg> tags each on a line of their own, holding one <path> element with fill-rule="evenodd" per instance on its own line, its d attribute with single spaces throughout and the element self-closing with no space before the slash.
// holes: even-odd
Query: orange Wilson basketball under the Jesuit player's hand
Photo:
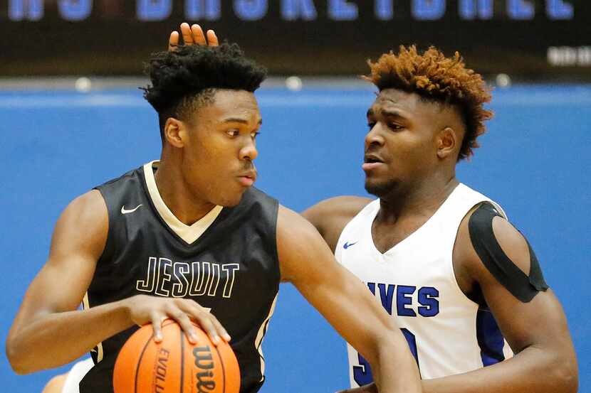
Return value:
<svg viewBox="0 0 591 393">
<path fill-rule="evenodd" d="M 240 370 L 230 345 L 216 347 L 195 330 L 195 345 L 170 319 L 162 324 L 161 343 L 154 342 L 152 325 L 133 333 L 115 362 L 115 393 L 239 393 Z"/>
</svg>

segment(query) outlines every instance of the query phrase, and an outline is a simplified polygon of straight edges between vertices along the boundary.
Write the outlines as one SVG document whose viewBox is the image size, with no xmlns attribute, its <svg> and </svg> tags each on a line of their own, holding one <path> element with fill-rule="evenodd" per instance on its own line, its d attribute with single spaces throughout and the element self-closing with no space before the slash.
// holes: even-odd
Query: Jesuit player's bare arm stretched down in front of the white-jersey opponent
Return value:
<svg viewBox="0 0 591 393">
<path fill-rule="evenodd" d="M 380 392 L 420 392 L 417 363 L 401 331 L 367 287 L 340 266 L 300 215 L 280 207 L 277 247 L 289 281 L 369 362 Z"/>
</svg>

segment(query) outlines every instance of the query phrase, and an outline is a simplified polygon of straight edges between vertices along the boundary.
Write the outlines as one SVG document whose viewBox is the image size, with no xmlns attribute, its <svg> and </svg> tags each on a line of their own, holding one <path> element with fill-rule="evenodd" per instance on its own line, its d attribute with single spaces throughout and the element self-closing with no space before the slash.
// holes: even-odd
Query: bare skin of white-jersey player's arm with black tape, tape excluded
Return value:
<svg viewBox="0 0 591 393">
<path fill-rule="evenodd" d="M 478 257 L 469 234 L 469 216 L 461 223 L 454 246 L 459 282 L 469 276 L 480 289 L 501 333 L 515 356 L 496 365 L 423 381 L 434 393 L 575 393 L 577 360 L 563 308 L 553 291 L 540 291 L 525 303 L 496 279 Z M 530 253 L 521 234 L 506 220 L 496 219 L 494 235 L 507 257 L 529 271 Z"/>
</svg>

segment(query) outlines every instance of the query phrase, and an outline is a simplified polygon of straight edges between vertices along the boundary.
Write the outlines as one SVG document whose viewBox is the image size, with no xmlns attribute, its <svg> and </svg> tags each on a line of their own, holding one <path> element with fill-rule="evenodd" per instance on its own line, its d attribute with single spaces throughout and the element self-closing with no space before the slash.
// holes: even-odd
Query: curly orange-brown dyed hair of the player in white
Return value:
<svg viewBox="0 0 591 393">
<path fill-rule="evenodd" d="M 446 58 L 433 46 L 419 54 L 415 45 L 400 45 L 399 53 L 383 54 L 376 63 L 368 60 L 371 73 L 364 77 L 382 91 L 398 89 L 415 92 L 421 97 L 455 105 L 464 117 L 466 135 L 462 141 L 458 160 L 474 154 L 479 145 L 476 138 L 484 132 L 484 122 L 493 112 L 483 105 L 491 101 L 491 90 L 481 75 L 466 68 L 464 59 L 456 52 Z"/>
</svg>

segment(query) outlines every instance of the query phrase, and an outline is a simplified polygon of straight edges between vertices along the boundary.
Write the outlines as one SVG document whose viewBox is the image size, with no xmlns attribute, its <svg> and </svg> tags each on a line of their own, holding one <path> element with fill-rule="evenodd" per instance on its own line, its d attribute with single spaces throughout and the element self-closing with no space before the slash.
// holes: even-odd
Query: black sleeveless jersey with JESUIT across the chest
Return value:
<svg viewBox="0 0 591 393">
<path fill-rule="evenodd" d="M 261 341 L 280 281 L 277 200 L 250 188 L 239 205 L 215 208 L 185 225 L 197 237 L 187 240 L 179 235 L 183 224 L 174 222 L 157 193 L 152 163 L 96 189 L 108 208 L 109 231 L 85 308 L 137 294 L 192 298 L 211 308 L 231 335 L 240 392 L 257 392 L 264 380 Z M 118 333 L 91 352 L 95 366 L 80 382 L 80 393 L 113 392 L 117 353 L 135 330 Z"/>
</svg>

